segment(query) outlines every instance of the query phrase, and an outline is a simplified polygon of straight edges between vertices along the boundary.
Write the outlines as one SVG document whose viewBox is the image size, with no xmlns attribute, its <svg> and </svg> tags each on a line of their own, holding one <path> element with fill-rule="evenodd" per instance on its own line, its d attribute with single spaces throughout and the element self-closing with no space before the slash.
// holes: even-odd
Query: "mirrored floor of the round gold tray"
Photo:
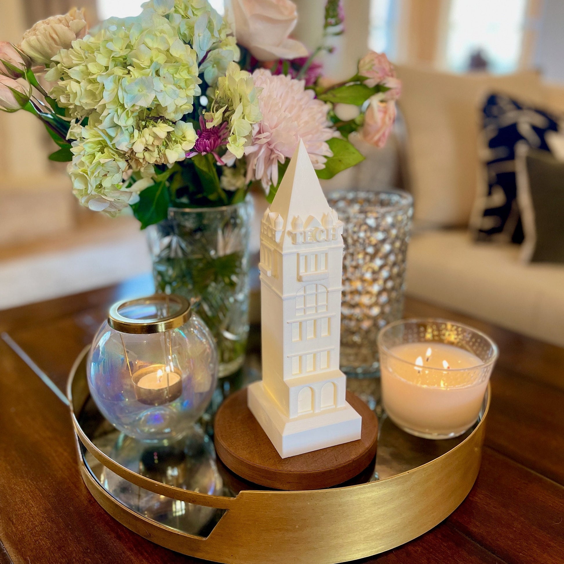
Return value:
<svg viewBox="0 0 564 564">
<path fill-rule="evenodd" d="M 367 382 L 372 397 L 379 398 L 378 380 Z M 355 390 L 362 396 L 362 390 Z M 486 400 L 484 399 L 484 406 Z M 376 412 L 378 413 L 378 407 Z M 353 486 L 390 478 L 426 464 L 450 451 L 468 437 L 475 425 L 460 437 L 428 440 L 409 435 L 396 427 L 385 413 L 379 414 L 378 450 L 376 459 L 362 473 L 340 486 Z M 483 415 L 480 414 L 480 418 Z M 208 495 L 235 497 L 242 490 L 266 490 L 246 482 L 226 468 L 215 454 L 213 440 L 200 425 L 177 443 L 155 447 L 127 437 L 109 424 L 91 399 L 87 400 L 80 424 L 92 443 L 113 460 L 134 472 Z M 211 431 L 209 423 L 206 425 Z M 100 485 L 129 509 L 162 525 L 191 535 L 205 537 L 221 519 L 224 510 L 185 503 L 158 495 L 119 477 L 105 468 L 84 447 L 82 456 L 87 468 Z"/>
</svg>

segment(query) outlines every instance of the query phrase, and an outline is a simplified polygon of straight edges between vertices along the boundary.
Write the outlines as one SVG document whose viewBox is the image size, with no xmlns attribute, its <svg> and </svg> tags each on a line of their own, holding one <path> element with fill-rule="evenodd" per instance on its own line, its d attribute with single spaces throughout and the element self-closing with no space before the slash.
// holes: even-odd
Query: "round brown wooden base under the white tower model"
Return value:
<svg viewBox="0 0 564 564">
<path fill-rule="evenodd" d="M 359 440 L 280 458 L 247 407 L 246 389 L 228 397 L 215 415 L 215 450 L 241 478 L 277 490 L 319 490 L 362 472 L 376 454 L 378 420 L 361 399 L 347 391 L 347 402 L 362 417 Z"/>
</svg>

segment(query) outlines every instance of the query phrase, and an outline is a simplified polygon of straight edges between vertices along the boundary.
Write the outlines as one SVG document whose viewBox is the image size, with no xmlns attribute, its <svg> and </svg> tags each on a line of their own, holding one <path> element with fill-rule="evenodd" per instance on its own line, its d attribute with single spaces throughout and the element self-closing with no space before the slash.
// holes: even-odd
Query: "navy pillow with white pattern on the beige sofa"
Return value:
<svg viewBox="0 0 564 564">
<path fill-rule="evenodd" d="M 484 196 L 478 197 L 472 222 L 478 241 L 522 243 L 515 147 L 526 144 L 549 151 L 545 140 L 548 131 L 558 131 L 557 116 L 527 107 L 502 94 L 492 94 L 486 100 L 479 148 L 487 190 Z"/>
</svg>

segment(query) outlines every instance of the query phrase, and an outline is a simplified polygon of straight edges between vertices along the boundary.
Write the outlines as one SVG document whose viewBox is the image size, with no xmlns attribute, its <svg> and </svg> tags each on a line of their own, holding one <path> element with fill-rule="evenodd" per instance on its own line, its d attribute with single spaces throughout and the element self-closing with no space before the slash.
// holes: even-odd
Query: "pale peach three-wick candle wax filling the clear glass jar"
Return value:
<svg viewBox="0 0 564 564">
<path fill-rule="evenodd" d="M 406 362 L 404 362 L 406 361 Z M 382 400 L 400 427 L 455 437 L 478 418 L 488 378 L 472 352 L 440 342 L 404 343 L 381 354 Z"/>
</svg>

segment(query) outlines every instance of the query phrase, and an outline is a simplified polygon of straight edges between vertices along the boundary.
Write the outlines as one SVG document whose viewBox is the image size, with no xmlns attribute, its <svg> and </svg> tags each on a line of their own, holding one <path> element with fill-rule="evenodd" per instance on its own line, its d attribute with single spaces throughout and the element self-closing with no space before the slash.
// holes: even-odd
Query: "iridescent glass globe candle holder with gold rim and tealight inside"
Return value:
<svg viewBox="0 0 564 564">
<path fill-rule="evenodd" d="M 186 298 L 155 294 L 115 303 L 87 359 L 90 394 L 105 418 L 139 440 L 173 442 L 204 413 L 218 358 Z"/>
</svg>

